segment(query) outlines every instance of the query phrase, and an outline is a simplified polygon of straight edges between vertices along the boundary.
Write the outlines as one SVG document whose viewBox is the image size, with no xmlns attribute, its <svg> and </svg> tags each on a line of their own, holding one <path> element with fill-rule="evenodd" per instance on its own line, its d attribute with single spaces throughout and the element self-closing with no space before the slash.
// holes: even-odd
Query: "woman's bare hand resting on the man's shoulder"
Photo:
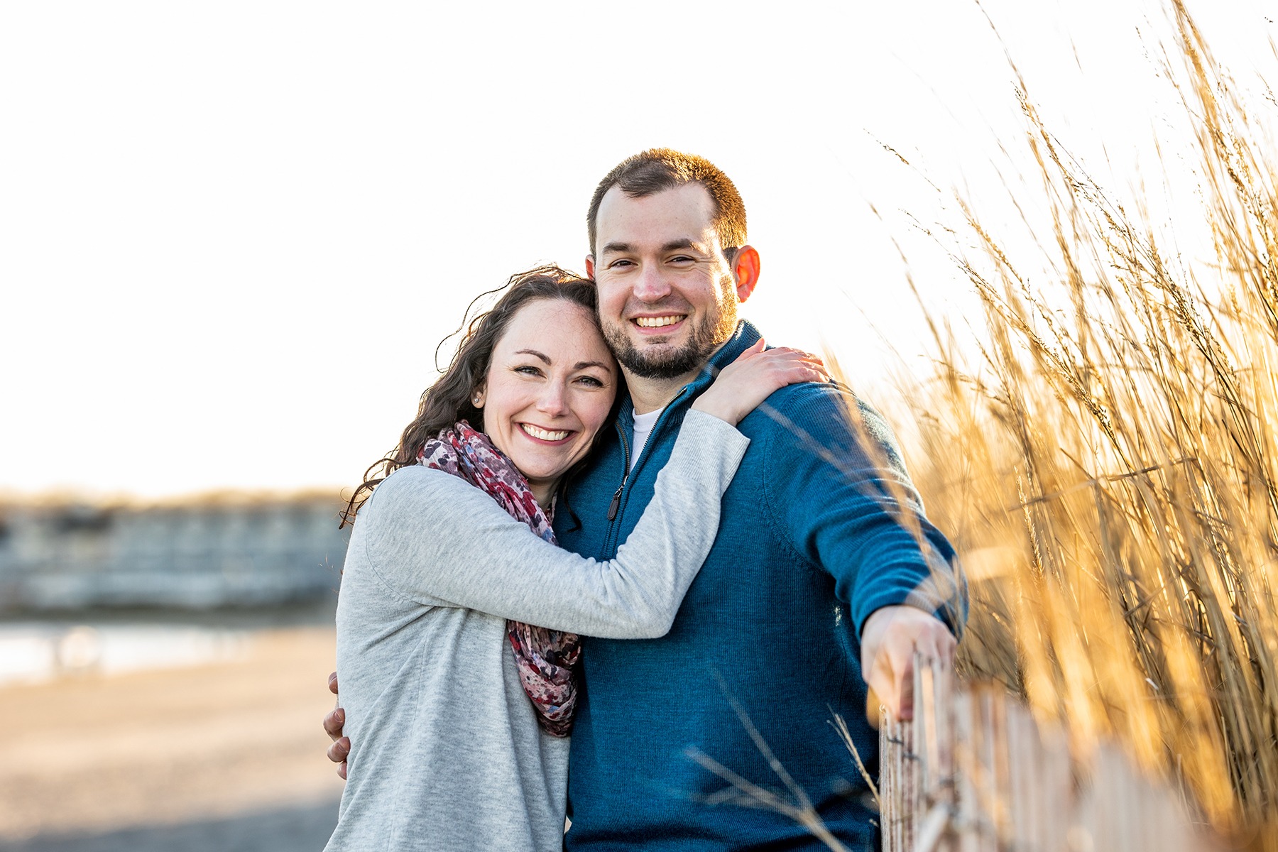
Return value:
<svg viewBox="0 0 1278 852">
<path fill-rule="evenodd" d="M 736 425 L 773 391 L 797 382 L 828 382 L 826 364 L 812 353 L 789 346 L 764 349 L 759 340 L 720 370 L 693 407 Z"/>
</svg>

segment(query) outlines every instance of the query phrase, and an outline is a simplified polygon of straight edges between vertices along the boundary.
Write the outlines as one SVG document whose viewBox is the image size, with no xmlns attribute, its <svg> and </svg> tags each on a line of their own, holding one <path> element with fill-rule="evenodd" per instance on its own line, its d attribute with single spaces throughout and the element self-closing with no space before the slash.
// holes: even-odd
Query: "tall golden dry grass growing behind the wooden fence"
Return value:
<svg viewBox="0 0 1278 852">
<path fill-rule="evenodd" d="M 966 359 L 937 333 L 910 466 L 969 574 L 960 671 L 1077 749 L 1116 738 L 1261 848 L 1255 826 L 1278 839 L 1278 148 L 1180 0 L 1168 18 L 1201 198 L 1174 227 L 1206 229 L 1215 262 L 1182 263 L 1112 201 L 1017 74 L 1056 273 L 1022 275 L 960 199 L 987 333 Z"/>
</svg>

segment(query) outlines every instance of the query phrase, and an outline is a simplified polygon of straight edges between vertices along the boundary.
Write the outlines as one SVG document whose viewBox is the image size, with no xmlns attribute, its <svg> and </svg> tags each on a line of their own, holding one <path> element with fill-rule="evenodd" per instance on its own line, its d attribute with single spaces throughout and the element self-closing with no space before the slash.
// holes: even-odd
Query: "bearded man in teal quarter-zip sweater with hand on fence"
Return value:
<svg viewBox="0 0 1278 852">
<path fill-rule="evenodd" d="M 727 176 L 667 149 L 613 169 L 588 221 L 587 271 L 631 399 L 570 484 L 556 533 L 566 548 L 610 558 L 693 400 L 759 339 L 736 316 L 759 253 Z M 955 588 L 953 551 L 924 519 L 882 418 L 833 384 L 809 383 L 773 393 L 739 429 L 749 451 L 670 634 L 584 641 L 567 849 L 822 848 L 774 809 L 741 806 L 749 796 L 723 780 L 794 801 L 782 772 L 836 837 L 868 848 L 864 782 L 831 714 L 873 769 L 863 667 L 907 718 L 915 649 L 952 657 L 953 635 L 934 612 Z"/>
</svg>

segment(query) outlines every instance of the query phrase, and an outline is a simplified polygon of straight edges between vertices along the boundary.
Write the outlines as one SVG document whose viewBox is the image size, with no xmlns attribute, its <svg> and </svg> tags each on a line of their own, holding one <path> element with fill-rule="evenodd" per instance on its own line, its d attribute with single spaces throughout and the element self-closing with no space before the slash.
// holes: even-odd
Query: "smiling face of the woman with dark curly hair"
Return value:
<svg viewBox="0 0 1278 852">
<path fill-rule="evenodd" d="M 537 299 L 511 317 L 478 393 L 484 432 L 546 506 L 608 419 L 617 365 L 587 308 Z"/>
</svg>

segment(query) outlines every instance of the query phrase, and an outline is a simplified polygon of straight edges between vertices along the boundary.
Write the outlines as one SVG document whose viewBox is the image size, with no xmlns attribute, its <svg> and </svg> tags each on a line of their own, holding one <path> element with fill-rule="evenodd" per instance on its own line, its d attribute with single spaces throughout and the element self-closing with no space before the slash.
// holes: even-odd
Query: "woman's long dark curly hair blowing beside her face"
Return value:
<svg viewBox="0 0 1278 852">
<path fill-rule="evenodd" d="M 520 308 L 537 299 L 564 299 L 589 310 L 596 321 L 598 317 L 594 281 L 557 266 L 539 266 L 512 275 L 505 286 L 479 294 L 466 308 L 466 316 L 470 317 L 477 305 L 498 293 L 502 295 L 492 308 L 474 314 L 469 323 L 463 321 L 461 327 L 454 332 L 461 335 L 461 345 L 458 346 L 449 369 L 422 393 L 417 416 L 404 429 L 399 446 L 364 471 L 364 482 L 355 489 L 341 512 L 341 526 L 354 522 L 359 508 L 372 496 L 378 483 L 400 468 L 415 465 L 422 445 L 437 436 L 441 429 L 452 428 L 458 420 L 468 420 L 472 427 L 483 432 L 483 410 L 477 409 L 472 400 L 488 374 L 493 347 Z M 454 335 L 445 337 L 436 347 L 436 363 L 440 350 Z M 619 393 L 617 397 L 620 396 Z"/>
</svg>

